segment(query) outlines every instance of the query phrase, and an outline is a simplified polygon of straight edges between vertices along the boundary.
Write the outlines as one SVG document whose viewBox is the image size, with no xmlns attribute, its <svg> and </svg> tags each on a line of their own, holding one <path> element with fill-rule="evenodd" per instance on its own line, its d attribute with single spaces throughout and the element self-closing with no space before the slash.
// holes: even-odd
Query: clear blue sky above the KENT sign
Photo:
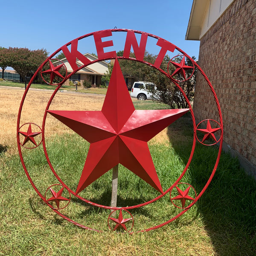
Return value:
<svg viewBox="0 0 256 256">
<path fill-rule="evenodd" d="M 198 58 L 199 41 L 185 41 L 192 0 L 9 0 L 1 3 L 0 46 L 51 54 L 90 32 L 135 29 L 157 35 Z M 157 54 L 155 50 L 147 49 Z M 85 50 L 90 52 L 90 49 Z M 83 52 L 83 53 L 85 53 Z"/>
</svg>

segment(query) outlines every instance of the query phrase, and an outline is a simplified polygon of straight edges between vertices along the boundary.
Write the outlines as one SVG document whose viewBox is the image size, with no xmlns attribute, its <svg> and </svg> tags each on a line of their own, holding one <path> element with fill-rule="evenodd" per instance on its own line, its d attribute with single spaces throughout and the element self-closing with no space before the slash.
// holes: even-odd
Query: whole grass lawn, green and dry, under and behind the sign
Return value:
<svg viewBox="0 0 256 256">
<path fill-rule="evenodd" d="M 22 95 L 20 90 L 0 88 L 0 255 L 256 255 L 256 181 L 244 174 L 236 159 L 224 153 L 211 184 L 199 201 L 176 221 L 160 229 L 136 232 L 167 221 L 179 212 L 167 195 L 150 207 L 131 210 L 136 223 L 133 235 L 109 231 L 106 224 L 109 210 L 91 207 L 76 198 L 63 213 L 102 232 L 84 230 L 64 221 L 39 198 L 20 164 L 15 125 Z M 33 118 L 29 122 L 40 123 L 50 95 L 48 91 L 29 92 L 21 123 L 29 119 L 26 115 Z M 103 101 L 100 96 L 57 93 L 51 109 L 97 111 L 102 108 Z M 34 105 L 37 108 L 33 108 Z M 136 100 L 134 105 L 137 109 L 166 108 L 151 101 Z M 75 189 L 89 144 L 54 118 L 47 120 L 45 133 L 52 165 Z M 148 143 L 163 189 L 168 188 L 183 170 L 191 151 L 191 138 L 191 121 L 185 116 Z M 55 178 L 42 148 L 22 150 L 32 180 L 45 191 L 46 184 L 52 184 Z M 212 172 L 216 154 L 217 148 L 198 143 L 183 181 L 201 191 Z M 119 206 L 138 204 L 158 195 L 122 166 L 118 183 Z M 99 204 L 109 204 L 111 171 L 81 195 Z"/>
</svg>

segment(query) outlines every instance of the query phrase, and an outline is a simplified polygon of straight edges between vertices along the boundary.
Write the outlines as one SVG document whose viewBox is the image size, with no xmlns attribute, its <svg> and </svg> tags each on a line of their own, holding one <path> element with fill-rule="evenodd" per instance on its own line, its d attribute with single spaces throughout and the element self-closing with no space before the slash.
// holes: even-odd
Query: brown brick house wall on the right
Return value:
<svg viewBox="0 0 256 256">
<path fill-rule="evenodd" d="M 256 170 L 256 1 L 235 0 L 200 42 L 199 66 L 218 96 L 224 142 Z M 218 121 L 214 99 L 197 77 L 193 110 L 198 121 Z M 255 173 L 256 174 L 256 173 Z"/>
</svg>

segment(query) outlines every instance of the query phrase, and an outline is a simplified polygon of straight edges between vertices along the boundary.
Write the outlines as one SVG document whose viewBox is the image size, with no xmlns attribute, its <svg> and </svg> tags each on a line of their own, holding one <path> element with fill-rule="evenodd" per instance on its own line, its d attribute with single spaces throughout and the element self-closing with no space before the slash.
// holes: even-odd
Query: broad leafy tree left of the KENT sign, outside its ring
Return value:
<svg viewBox="0 0 256 256">
<path fill-rule="evenodd" d="M 46 60 L 47 55 L 46 49 L 29 50 L 28 48 L 9 47 L 9 64 L 25 81 L 26 76 L 32 76 Z"/>
</svg>

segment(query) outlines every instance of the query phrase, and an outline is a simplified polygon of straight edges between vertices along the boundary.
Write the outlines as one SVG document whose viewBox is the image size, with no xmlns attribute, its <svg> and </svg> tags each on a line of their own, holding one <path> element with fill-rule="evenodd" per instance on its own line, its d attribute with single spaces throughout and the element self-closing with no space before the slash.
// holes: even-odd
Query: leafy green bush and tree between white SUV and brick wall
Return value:
<svg viewBox="0 0 256 256">
<path fill-rule="evenodd" d="M 119 52 L 119 56 L 122 56 L 122 52 Z M 131 52 L 130 57 L 135 58 L 134 52 Z M 154 63 L 156 58 L 157 55 L 153 55 L 145 51 L 143 60 L 152 64 Z M 192 59 L 195 60 L 195 57 L 193 56 Z M 168 70 L 168 64 L 170 60 L 170 57 L 166 55 L 163 58 L 163 61 L 160 65 L 160 69 L 162 69 L 166 73 Z M 180 63 L 181 60 L 182 57 L 179 56 L 176 57 L 175 60 L 173 61 Z M 167 77 L 163 73 L 138 61 L 120 59 L 119 64 L 124 75 L 134 77 L 135 80 L 152 82 L 156 85 L 157 90 L 154 90 L 154 87 L 148 88 L 148 91 L 152 93 L 153 99 L 155 101 L 165 103 L 166 105 L 169 105 L 171 108 L 188 108 L 188 102 L 186 102 L 178 87 L 169 79 L 169 77 Z M 188 58 L 186 58 L 185 64 L 186 66 L 193 66 L 192 61 Z M 175 69 L 176 68 L 172 64 L 169 64 L 170 74 L 172 74 L 175 71 Z M 111 70 L 109 69 L 109 71 Z M 194 96 L 196 69 L 194 70 L 193 74 L 192 72 L 193 69 L 186 70 L 186 77 L 188 78 L 189 76 L 191 76 L 190 79 L 186 81 L 183 81 L 184 79 L 180 73 L 173 77 L 178 81 L 183 81 L 178 82 L 178 84 L 186 94 L 186 97 L 189 99 L 189 102 L 192 101 Z M 108 75 L 111 76 L 111 73 L 109 72 Z"/>
</svg>

